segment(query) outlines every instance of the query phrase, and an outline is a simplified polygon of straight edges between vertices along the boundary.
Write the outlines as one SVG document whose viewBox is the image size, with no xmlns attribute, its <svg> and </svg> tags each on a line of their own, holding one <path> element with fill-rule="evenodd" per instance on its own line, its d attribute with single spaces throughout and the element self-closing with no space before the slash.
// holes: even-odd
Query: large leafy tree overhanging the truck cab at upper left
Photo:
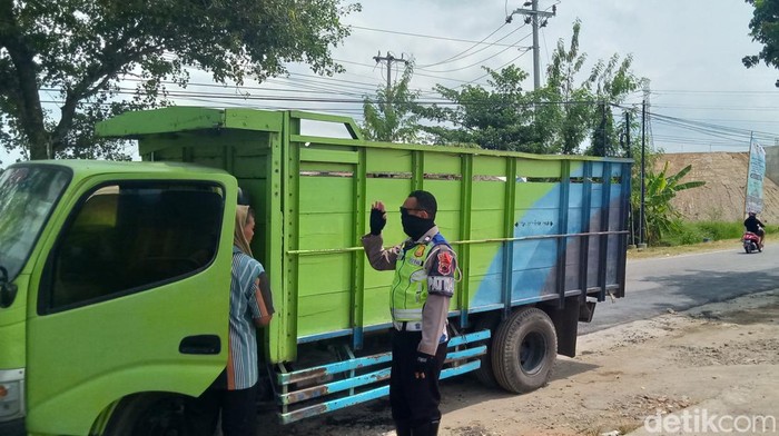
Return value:
<svg viewBox="0 0 779 436">
<path fill-rule="evenodd" d="M 166 83 L 186 86 L 187 67 L 238 85 L 294 61 L 337 72 L 329 49 L 348 34 L 339 19 L 359 10 L 341 2 L 0 0 L 0 139 L 32 159 L 114 157 L 115 145 L 90 149 L 95 122 L 166 105 Z M 135 97 L 119 98 L 128 92 Z M 59 117 L 41 93 L 57 100 Z"/>
</svg>

